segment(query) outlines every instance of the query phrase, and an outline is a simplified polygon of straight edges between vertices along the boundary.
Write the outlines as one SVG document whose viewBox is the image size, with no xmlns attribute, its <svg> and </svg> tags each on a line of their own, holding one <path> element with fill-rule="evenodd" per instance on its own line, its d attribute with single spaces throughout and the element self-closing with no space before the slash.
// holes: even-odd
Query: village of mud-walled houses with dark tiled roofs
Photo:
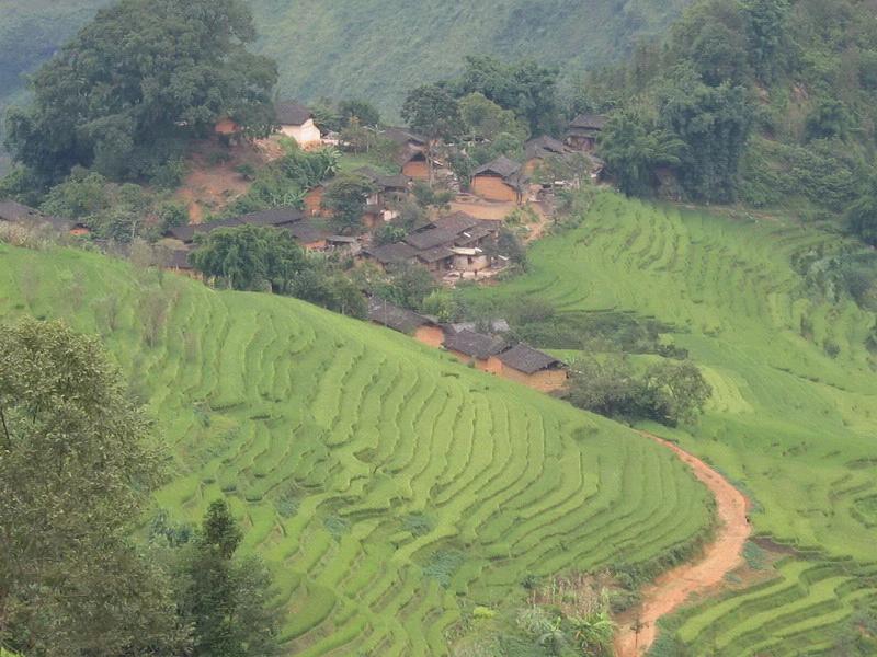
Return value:
<svg viewBox="0 0 877 657">
<path fill-rule="evenodd" d="M 294 139 L 305 149 L 339 146 L 339 136 L 323 135 L 309 110 L 295 102 L 277 105 L 280 134 Z M 457 280 L 480 280 L 503 270 L 509 257 L 497 250 L 503 218 L 524 205 L 545 203 L 557 186 L 578 185 L 581 181 L 549 181 L 536 183 L 532 175 L 544 161 L 586 153 L 590 168 L 583 172 L 600 176 L 602 162 L 592 154 L 596 138 L 605 124 L 601 116 L 582 115 L 572 120 L 563 141 L 540 136 L 525 143 L 523 162 L 504 155 L 478 168 L 468 185 L 469 193 L 458 192 L 445 162 L 431 154 L 426 138 L 406 128 L 389 127 L 381 135 L 398 146 L 398 172 L 386 174 L 364 166 L 353 173 L 366 178 L 374 192 L 365 199 L 362 233 L 335 234 L 326 221 L 323 207 L 326 183 L 307 192 L 303 207 L 275 207 L 239 217 L 189 223 L 170 228 L 162 239 L 166 257 L 162 265 L 180 273 L 196 275 L 189 255 L 197 246 L 198 237 L 238 226 L 273 227 L 288 231 L 307 252 L 330 253 L 352 258 L 354 263 L 371 262 L 385 272 L 403 265 L 420 265 L 436 280 L 453 285 Z M 215 129 L 218 138 L 234 141 L 238 127 L 220 120 Z M 432 161 L 430 159 L 432 158 Z M 442 178 L 456 199 L 451 209 L 434 211 L 429 219 L 413 227 L 392 243 L 378 244 L 374 231 L 397 218 L 400 200 L 411 194 L 418 182 Z M 472 214 L 466 211 L 474 208 Z M 463 209 L 460 209 L 463 208 Z M 487 209 L 487 211 L 485 211 Z M 482 215 L 481 217 L 475 216 Z M 14 201 L 0 203 L 0 221 L 24 226 L 48 224 L 57 232 L 88 234 L 82 223 L 48 217 Z M 479 370 L 511 379 L 544 392 L 560 390 L 567 381 L 567 370 L 556 358 L 526 344 L 508 337 L 509 325 L 502 320 L 490 322 L 478 332 L 475 324 L 443 324 L 435 318 L 372 298 L 368 319 L 377 324 L 411 335 L 419 342 L 444 348 L 459 360 Z"/>
</svg>

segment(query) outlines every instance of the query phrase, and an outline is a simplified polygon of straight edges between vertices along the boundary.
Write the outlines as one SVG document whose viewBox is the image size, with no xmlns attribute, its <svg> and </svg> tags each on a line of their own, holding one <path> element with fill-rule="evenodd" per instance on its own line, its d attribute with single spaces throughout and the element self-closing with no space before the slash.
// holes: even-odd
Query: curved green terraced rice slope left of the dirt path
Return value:
<svg viewBox="0 0 877 657">
<path fill-rule="evenodd" d="M 0 245 L 0 316 L 99 333 L 172 446 L 157 504 L 228 496 L 296 655 L 446 655 L 527 576 L 701 538 L 706 489 L 624 427 L 294 299 Z M 478 622 L 478 621 L 475 621 Z"/>
</svg>

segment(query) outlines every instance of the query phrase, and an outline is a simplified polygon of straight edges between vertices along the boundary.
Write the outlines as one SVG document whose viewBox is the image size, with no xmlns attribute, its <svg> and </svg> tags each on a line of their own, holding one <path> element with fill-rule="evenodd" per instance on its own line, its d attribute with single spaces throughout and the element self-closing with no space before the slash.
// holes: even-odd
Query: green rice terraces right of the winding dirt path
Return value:
<svg viewBox="0 0 877 657">
<path fill-rule="evenodd" d="M 580 226 L 533 247 L 527 274 L 471 292 L 538 298 L 566 318 L 656 319 L 704 370 L 714 396 L 698 425 L 647 428 L 749 495 L 756 534 L 783 558 L 756 586 L 667 623 L 693 655 L 823 654 L 877 601 L 875 315 L 827 298 L 793 264 L 843 240 L 601 193 Z M 659 642 L 652 654 L 677 653 Z"/>
</svg>

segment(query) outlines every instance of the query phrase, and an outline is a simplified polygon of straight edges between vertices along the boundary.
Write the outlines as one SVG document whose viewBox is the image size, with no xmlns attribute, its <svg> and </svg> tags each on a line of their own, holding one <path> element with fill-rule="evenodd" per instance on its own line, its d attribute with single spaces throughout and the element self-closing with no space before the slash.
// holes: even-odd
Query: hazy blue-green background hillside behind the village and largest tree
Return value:
<svg viewBox="0 0 877 657">
<path fill-rule="evenodd" d="M 0 0 L 0 106 L 109 0 Z M 454 73 L 472 53 L 532 56 L 572 72 L 624 55 L 686 0 L 250 0 L 260 49 L 276 58 L 283 95 L 362 96 L 390 115 L 405 92 Z"/>
</svg>

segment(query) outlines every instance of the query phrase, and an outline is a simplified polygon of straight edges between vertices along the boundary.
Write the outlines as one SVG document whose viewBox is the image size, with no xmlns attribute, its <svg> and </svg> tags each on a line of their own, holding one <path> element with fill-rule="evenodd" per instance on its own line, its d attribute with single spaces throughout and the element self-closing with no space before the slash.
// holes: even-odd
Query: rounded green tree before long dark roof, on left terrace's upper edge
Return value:
<svg viewBox="0 0 877 657">
<path fill-rule="evenodd" d="M 276 293 L 289 293 L 308 266 L 288 231 L 252 224 L 210 232 L 190 260 L 198 272 L 232 289 L 270 288 Z"/>
</svg>

